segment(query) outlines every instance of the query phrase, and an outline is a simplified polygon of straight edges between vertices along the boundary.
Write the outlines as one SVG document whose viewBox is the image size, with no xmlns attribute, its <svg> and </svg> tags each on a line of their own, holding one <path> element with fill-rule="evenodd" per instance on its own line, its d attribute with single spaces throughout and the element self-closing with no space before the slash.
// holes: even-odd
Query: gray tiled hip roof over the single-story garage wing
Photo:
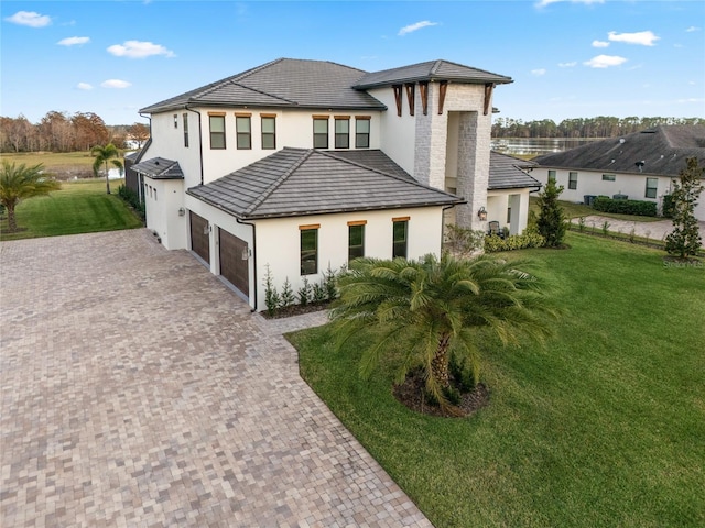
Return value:
<svg viewBox="0 0 705 528">
<path fill-rule="evenodd" d="M 370 151 L 366 151 L 370 152 Z M 186 193 L 236 217 L 263 219 L 345 211 L 449 206 L 464 200 L 368 164 L 305 148 L 283 148 Z"/>
</svg>

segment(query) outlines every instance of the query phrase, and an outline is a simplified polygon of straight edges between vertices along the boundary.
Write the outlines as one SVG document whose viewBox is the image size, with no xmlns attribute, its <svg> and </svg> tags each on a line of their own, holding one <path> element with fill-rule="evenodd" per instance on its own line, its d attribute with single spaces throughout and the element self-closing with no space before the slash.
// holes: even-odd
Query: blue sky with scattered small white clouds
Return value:
<svg viewBox="0 0 705 528">
<path fill-rule="evenodd" d="M 705 118 L 705 2 L 6 1 L 0 114 L 107 124 L 279 57 L 375 72 L 447 61 L 507 75 L 499 117 Z"/>
</svg>

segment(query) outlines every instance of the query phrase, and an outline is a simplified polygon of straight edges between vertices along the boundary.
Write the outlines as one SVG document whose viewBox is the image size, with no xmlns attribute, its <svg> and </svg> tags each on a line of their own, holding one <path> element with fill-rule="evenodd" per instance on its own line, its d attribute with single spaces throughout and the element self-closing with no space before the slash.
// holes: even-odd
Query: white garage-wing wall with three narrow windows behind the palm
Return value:
<svg viewBox="0 0 705 528">
<path fill-rule="evenodd" d="M 340 270 L 348 258 L 349 221 L 366 220 L 365 255 L 378 258 L 392 256 L 392 218 L 410 217 L 408 257 L 419 258 L 426 253 L 436 255 L 442 244 L 442 208 L 394 209 L 337 215 L 283 218 L 257 221 L 257 266 L 259 302 L 264 310 L 264 276 L 267 265 L 278 290 L 286 278 L 296 292 L 303 285 L 301 275 L 300 226 L 321 224 L 318 229 L 318 273 L 305 275 L 311 284 L 323 279 L 328 265 Z"/>
</svg>

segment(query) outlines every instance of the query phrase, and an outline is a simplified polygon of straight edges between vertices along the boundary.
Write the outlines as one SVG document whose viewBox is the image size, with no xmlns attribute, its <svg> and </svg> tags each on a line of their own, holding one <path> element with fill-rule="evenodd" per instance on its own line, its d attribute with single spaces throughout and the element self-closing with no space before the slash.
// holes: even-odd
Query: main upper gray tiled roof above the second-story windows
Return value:
<svg viewBox="0 0 705 528">
<path fill-rule="evenodd" d="M 305 109 L 383 110 L 351 86 L 365 74 L 326 61 L 279 58 L 140 110 L 155 113 L 186 106 L 264 106 Z"/>
</svg>

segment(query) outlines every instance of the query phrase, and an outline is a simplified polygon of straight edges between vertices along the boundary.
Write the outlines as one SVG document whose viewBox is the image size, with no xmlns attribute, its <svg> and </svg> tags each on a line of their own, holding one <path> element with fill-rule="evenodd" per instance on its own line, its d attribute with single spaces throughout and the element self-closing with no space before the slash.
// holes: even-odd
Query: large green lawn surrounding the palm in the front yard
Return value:
<svg viewBox="0 0 705 528">
<path fill-rule="evenodd" d="M 437 528 L 705 526 L 705 264 L 567 241 L 503 254 L 539 264 L 564 316 L 544 348 L 488 340 L 478 414 L 408 410 L 327 327 L 290 336 L 302 375 Z"/>
</svg>

